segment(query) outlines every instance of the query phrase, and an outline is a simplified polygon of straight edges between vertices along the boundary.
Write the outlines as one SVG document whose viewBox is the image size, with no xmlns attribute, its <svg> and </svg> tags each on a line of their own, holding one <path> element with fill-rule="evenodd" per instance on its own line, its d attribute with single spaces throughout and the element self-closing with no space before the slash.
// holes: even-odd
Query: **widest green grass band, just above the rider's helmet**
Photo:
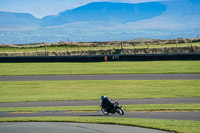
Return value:
<svg viewBox="0 0 200 133">
<path fill-rule="evenodd" d="M 199 97 L 200 80 L 1 81 L 0 102 Z M 115 93 L 113 93 L 115 92 Z"/>
</svg>

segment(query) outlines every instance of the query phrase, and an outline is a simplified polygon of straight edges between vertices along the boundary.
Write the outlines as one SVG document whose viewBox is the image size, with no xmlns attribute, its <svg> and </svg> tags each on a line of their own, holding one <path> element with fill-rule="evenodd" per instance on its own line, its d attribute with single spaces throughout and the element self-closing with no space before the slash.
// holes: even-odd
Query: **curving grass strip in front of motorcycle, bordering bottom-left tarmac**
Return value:
<svg viewBox="0 0 200 133">
<path fill-rule="evenodd" d="M 0 118 L 0 122 L 81 122 L 138 126 L 178 133 L 199 133 L 199 121 L 138 119 L 115 117 L 17 117 Z"/>
</svg>

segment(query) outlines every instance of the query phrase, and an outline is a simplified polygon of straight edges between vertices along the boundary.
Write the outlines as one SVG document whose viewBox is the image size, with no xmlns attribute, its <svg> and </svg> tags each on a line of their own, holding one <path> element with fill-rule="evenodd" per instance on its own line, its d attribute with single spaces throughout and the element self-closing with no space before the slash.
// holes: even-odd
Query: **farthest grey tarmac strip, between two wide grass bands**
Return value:
<svg viewBox="0 0 200 133">
<path fill-rule="evenodd" d="M 200 74 L 108 74 L 108 75 L 36 75 L 0 76 L 0 81 L 51 80 L 187 80 L 200 79 Z"/>
</svg>

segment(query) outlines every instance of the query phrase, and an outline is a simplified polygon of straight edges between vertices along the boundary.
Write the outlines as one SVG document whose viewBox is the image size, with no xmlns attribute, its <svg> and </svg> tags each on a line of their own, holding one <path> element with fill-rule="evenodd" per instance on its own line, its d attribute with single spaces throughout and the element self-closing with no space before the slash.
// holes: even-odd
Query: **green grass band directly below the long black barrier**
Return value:
<svg viewBox="0 0 200 133">
<path fill-rule="evenodd" d="M 0 63 L 0 75 L 200 73 L 199 66 L 200 61 Z"/>
</svg>

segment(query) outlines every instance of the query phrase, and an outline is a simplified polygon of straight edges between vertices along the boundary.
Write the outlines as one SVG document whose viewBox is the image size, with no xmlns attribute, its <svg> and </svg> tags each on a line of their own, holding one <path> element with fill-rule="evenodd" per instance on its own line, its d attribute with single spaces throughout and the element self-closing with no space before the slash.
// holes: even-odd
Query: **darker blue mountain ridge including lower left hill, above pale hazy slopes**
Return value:
<svg viewBox="0 0 200 133">
<path fill-rule="evenodd" d="M 154 9 L 154 10 L 152 10 Z M 0 29 L 15 30 L 24 28 L 57 26 L 74 22 L 101 21 L 124 24 L 149 19 L 162 14 L 166 6 L 157 2 L 129 4 L 111 2 L 93 2 L 72 10 L 66 10 L 55 16 L 35 18 L 28 13 L 0 11 Z"/>
</svg>

